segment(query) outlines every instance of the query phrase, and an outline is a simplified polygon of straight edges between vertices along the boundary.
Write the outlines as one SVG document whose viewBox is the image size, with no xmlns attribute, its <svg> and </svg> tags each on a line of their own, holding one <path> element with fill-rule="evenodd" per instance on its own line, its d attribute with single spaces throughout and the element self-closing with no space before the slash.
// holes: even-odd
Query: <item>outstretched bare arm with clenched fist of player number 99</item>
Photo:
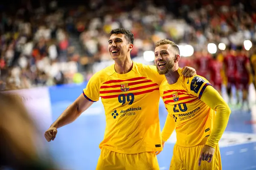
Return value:
<svg viewBox="0 0 256 170">
<path fill-rule="evenodd" d="M 89 108 L 93 102 L 87 100 L 83 94 L 81 94 L 75 102 L 73 102 L 58 119 L 49 127 L 44 133 L 45 139 L 50 142 L 54 140 L 57 134 L 57 129 L 64 125 L 68 125 L 75 121 L 81 113 L 83 113 L 87 108 Z"/>
</svg>

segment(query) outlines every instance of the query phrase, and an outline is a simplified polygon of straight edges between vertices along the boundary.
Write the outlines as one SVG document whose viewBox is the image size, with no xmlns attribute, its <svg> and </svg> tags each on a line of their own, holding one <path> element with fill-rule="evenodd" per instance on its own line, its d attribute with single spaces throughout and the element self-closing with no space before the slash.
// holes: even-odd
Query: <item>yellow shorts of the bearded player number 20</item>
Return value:
<svg viewBox="0 0 256 170">
<path fill-rule="evenodd" d="M 195 147 L 181 147 L 175 144 L 170 170 L 221 170 L 221 153 L 218 145 L 215 147 L 212 161 L 210 163 L 201 161 L 201 165 L 198 166 L 203 147 L 204 144 Z"/>
</svg>

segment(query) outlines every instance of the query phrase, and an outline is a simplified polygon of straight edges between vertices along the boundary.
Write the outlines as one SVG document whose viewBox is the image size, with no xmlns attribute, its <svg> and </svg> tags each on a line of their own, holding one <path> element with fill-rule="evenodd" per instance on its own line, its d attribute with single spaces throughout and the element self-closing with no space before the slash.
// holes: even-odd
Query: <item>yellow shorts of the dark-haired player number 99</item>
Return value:
<svg viewBox="0 0 256 170">
<path fill-rule="evenodd" d="M 101 149 L 96 170 L 160 170 L 156 153 L 122 154 Z"/>
</svg>

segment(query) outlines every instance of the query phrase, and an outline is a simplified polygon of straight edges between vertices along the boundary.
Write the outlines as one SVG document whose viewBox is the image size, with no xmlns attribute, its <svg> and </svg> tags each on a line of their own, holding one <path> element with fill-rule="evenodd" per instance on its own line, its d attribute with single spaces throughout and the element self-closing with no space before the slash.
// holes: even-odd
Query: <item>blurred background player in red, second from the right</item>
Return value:
<svg viewBox="0 0 256 170">
<path fill-rule="evenodd" d="M 232 99 L 232 86 L 236 85 L 236 57 L 235 51 L 229 46 L 227 55 L 224 57 L 224 71 L 227 77 L 227 94 L 229 96 L 229 102 Z"/>
</svg>

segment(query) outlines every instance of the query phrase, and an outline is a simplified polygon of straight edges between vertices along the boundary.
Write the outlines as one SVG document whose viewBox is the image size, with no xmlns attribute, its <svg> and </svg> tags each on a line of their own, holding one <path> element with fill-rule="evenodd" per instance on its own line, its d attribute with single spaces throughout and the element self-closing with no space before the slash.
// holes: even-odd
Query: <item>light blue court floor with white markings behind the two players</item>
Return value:
<svg viewBox="0 0 256 170">
<path fill-rule="evenodd" d="M 72 91 L 72 88 L 70 89 Z M 74 88 L 72 94 L 61 88 L 49 89 L 52 120 L 70 105 L 82 89 Z M 67 97 L 68 96 L 68 97 Z M 225 93 L 224 93 L 225 97 Z M 256 104 L 255 90 L 250 86 L 251 111 L 231 107 L 227 129 L 219 142 L 223 170 L 256 170 Z M 166 119 L 166 109 L 160 99 L 161 129 Z M 47 143 L 50 152 L 61 169 L 95 170 L 100 154 L 99 143 L 105 130 L 105 114 L 102 103 L 95 102 L 72 124 L 58 129 L 54 141 Z M 160 170 L 169 170 L 175 132 L 157 156 Z"/>
</svg>

